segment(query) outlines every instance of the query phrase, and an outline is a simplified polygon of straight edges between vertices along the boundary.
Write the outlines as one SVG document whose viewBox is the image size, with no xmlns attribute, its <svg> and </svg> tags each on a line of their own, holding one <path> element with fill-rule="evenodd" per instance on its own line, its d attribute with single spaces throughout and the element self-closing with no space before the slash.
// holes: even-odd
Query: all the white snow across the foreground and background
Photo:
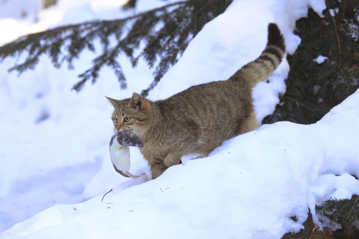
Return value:
<svg viewBox="0 0 359 239">
<path fill-rule="evenodd" d="M 9 30 L 0 44 L 31 31 L 124 17 L 172 1 L 139 0 L 135 11 L 125 12 L 113 2 L 59 0 L 41 10 L 36 23 L 0 19 Z M 307 15 L 308 7 L 322 16 L 325 1 L 234 0 L 190 42 L 149 99 L 227 79 L 260 55 L 269 22 L 279 25 L 292 54 L 300 43 L 293 34 L 295 21 Z M 122 177 L 109 157 L 113 107 L 104 96 L 123 99 L 139 93 L 152 81 L 151 70 L 143 61 L 133 69 L 120 59 L 127 90 L 119 90 L 106 68 L 94 86 L 76 94 L 70 90 L 76 75 L 93 57 L 83 53 L 73 71 L 54 69 L 44 57 L 19 78 L 6 72 L 13 59 L 0 65 L 0 123 L 6 126 L 0 134 L 0 232 L 8 229 L 0 238 L 274 239 L 298 232 L 308 208 L 314 212 L 330 197 L 359 193 L 359 181 L 352 176 L 359 175 L 358 91 L 316 124 L 263 125 L 155 180 L 138 148 L 131 147 L 131 173 L 147 175 Z M 288 70 L 284 59 L 269 83 L 254 89 L 258 121 L 285 93 Z M 44 115 L 48 118 L 36 123 Z M 294 215 L 297 222 L 290 219 Z M 314 221 L 327 225 L 316 215 Z"/>
</svg>

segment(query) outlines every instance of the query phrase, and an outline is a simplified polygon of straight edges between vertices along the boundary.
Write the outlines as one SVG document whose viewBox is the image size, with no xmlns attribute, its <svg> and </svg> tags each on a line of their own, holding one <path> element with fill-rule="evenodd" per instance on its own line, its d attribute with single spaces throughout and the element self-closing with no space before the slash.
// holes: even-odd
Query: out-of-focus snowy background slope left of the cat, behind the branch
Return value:
<svg viewBox="0 0 359 239">
<path fill-rule="evenodd" d="M 120 0 L 58 0 L 56 6 L 38 13 L 36 23 L 0 18 L 0 44 L 21 34 L 67 23 L 134 14 L 120 11 L 119 3 Z M 136 11 L 167 2 L 139 3 Z M 75 70 L 68 70 L 66 65 L 55 69 L 43 57 L 34 71 L 20 77 L 16 72 L 7 72 L 14 59 L 0 64 L 0 232 L 52 205 L 82 202 L 85 187 L 103 161 L 109 160 L 112 106 L 104 96 L 130 97 L 152 81 L 151 71 L 143 61 L 131 68 L 127 59 L 120 59 L 129 79 L 126 91 L 120 91 L 115 76 L 106 68 L 96 85 L 88 84 L 77 94 L 71 91 L 72 85 L 78 81 L 77 75 L 90 67 L 95 55 L 84 52 L 80 57 L 74 62 Z M 144 161 L 142 167 L 146 167 Z M 108 177 L 122 180 L 112 171 Z"/>
</svg>

